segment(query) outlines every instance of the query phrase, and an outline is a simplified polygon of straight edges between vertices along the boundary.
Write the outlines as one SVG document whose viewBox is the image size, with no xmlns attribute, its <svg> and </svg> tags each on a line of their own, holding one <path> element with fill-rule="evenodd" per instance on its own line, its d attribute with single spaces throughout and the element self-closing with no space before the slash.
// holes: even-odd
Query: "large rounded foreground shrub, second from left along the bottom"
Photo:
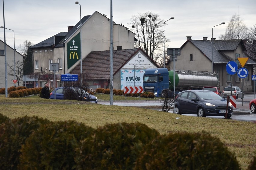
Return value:
<svg viewBox="0 0 256 170">
<path fill-rule="evenodd" d="M 45 124 L 21 148 L 20 169 L 73 169 L 77 143 L 94 129 L 75 121 Z"/>
</svg>

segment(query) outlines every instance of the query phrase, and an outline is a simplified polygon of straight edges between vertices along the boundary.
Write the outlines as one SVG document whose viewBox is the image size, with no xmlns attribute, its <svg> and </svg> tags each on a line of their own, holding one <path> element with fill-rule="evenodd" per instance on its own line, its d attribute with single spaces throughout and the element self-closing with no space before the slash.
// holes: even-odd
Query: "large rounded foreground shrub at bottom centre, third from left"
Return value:
<svg viewBox="0 0 256 170">
<path fill-rule="evenodd" d="M 141 123 L 117 123 L 99 127 L 76 149 L 76 169 L 132 170 L 142 147 L 159 133 Z"/>
</svg>

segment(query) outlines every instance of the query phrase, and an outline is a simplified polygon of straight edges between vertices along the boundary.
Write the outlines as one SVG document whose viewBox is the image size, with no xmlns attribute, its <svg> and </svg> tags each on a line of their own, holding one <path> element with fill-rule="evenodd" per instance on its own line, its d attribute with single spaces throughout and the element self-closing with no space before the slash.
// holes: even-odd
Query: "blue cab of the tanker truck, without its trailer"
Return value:
<svg viewBox="0 0 256 170">
<path fill-rule="evenodd" d="M 156 97 L 162 96 L 162 91 L 169 90 L 169 73 L 167 68 L 149 68 L 143 76 L 143 90 L 152 92 Z"/>
</svg>

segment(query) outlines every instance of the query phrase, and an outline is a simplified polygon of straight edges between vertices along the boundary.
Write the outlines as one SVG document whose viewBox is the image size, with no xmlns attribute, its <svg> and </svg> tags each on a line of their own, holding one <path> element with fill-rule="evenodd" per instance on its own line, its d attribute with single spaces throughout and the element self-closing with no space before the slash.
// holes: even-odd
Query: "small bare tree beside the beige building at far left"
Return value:
<svg viewBox="0 0 256 170">
<path fill-rule="evenodd" d="M 8 75 L 14 76 L 14 65 L 7 63 L 7 66 L 10 68 Z M 20 86 L 20 81 L 23 80 L 23 61 L 15 61 L 15 79 L 17 79 L 18 86 Z"/>
</svg>

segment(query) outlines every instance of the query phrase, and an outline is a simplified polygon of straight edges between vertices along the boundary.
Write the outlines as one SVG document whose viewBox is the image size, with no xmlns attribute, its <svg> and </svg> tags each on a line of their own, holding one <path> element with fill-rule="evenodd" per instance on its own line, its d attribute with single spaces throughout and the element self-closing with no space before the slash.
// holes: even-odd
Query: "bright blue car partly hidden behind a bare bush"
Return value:
<svg viewBox="0 0 256 170">
<path fill-rule="evenodd" d="M 73 87 L 70 87 L 70 89 L 75 89 Z M 65 99 L 64 97 L 64 87 L 59 87 L 59 88 L 55 88 L 55 90 L 53 90 L 51 93 L 50 93 L 50 99 L 54 99 L 54 94 L 55 94 L 55 98 L 56 99 Z M 81 93 L 80 93 L 81 94 Z M 83 93 L 84 94 L 84 100 L 86 101 L 86 97 L 85 96 L 89 96 L 89 99 L 87 99 L 88 102 L 95 102 L 95 103 L 98 103 L 98 99 L 97 97 L 93 96 L 92 94 L 88 94 L 86 91 L 83 90 Z M 78 96 L 80 97 L 80 96 Z M 75 98 L 75 97 L 74 97 Z"/>
</svg>

